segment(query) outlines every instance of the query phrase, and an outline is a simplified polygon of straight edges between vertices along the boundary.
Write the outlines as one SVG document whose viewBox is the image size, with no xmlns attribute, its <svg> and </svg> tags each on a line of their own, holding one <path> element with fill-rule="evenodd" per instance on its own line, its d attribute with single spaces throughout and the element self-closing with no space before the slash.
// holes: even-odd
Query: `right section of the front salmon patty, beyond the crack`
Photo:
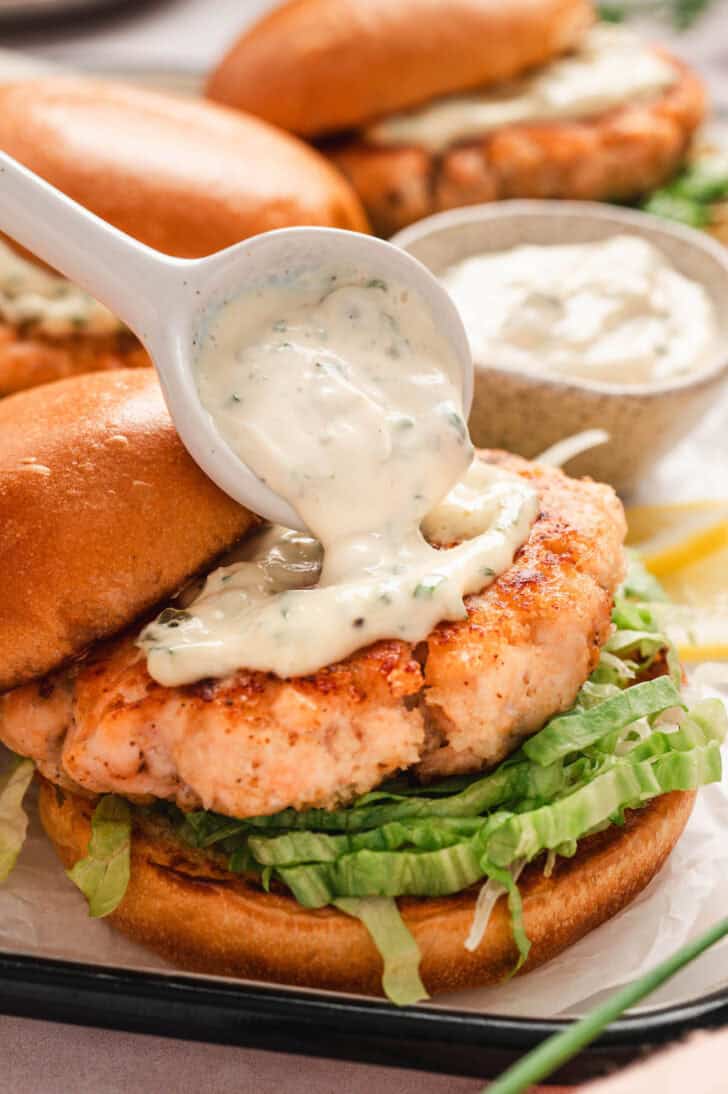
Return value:
<svg viewBox="0 0 728 1094">
<path fill-rule="evenodd" d="M 467 618 L 427 639 L 427 778 L 489 767 L 568 710 L 599 661 L 624 574 L 624 510 L 611 487 L 488 457 L 530 482 L 540 512 L 512 565 L 467 597 Z"/>
</svg>

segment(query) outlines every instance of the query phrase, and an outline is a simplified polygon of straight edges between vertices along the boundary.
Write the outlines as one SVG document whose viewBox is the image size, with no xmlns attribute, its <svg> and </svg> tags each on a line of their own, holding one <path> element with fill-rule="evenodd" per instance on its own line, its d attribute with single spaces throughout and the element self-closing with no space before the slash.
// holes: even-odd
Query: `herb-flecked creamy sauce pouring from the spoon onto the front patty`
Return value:
<svg viewBox="0 0 728 1094">
<path fill-rule="evenodd" d="M 464 618 L 463 596 L 528 537 L 538 496 L 473 463 L 459 363 L 402 286 L 356 270 L 271 281 L 212 317 L 197 382 L 231 447 L 312 535 L 251 537 L 149 625 L 140 645 L 161 684 L 300 676 L 378 639 L 420 641 Z"/>
</svg>

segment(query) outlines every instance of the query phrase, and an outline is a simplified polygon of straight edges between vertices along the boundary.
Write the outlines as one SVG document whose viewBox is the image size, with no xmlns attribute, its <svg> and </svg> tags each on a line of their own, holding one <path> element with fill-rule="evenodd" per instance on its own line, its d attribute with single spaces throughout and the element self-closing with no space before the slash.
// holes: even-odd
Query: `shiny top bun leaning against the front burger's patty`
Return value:
<svg viewBox="0 0 728 1094">
<path fill-rule="evenodd" d="M 0 401 L 0 689 L 148 610 L 253 520 L 187 455 L 151 370 Z"/>
</svg>

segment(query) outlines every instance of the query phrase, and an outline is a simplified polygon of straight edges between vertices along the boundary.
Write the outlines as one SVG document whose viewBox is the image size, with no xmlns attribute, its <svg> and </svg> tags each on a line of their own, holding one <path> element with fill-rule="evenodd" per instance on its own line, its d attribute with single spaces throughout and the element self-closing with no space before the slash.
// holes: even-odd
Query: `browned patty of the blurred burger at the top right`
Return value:
<svg viewBox="0 0 728 1094">
<path fill-rule="evenodd" d="M 674 174 L 705 115 L 701 80 L 663 56 L 679 73 L 673 86 L 599 117 L 504 126 L 438 154 L 375 147 L 360 136 L 327 153 L 385 236 L 444 209 L 508 198 L 628 200 Z"/>
</svg>

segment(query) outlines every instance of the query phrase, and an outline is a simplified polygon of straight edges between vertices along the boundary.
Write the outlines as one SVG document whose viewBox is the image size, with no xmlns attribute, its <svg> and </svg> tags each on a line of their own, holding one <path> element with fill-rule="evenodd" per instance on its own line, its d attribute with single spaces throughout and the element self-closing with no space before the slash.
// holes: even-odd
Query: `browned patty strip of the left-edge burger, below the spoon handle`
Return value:
<svg viewBox="0 0 728 1094">
<path fill-rule="evenodd" d="M 50 338 L 0 323 L 0 396 L 65 380 L 82 372 L 151 365 L 132 334 L 72 334 Z"/>
</svg>

